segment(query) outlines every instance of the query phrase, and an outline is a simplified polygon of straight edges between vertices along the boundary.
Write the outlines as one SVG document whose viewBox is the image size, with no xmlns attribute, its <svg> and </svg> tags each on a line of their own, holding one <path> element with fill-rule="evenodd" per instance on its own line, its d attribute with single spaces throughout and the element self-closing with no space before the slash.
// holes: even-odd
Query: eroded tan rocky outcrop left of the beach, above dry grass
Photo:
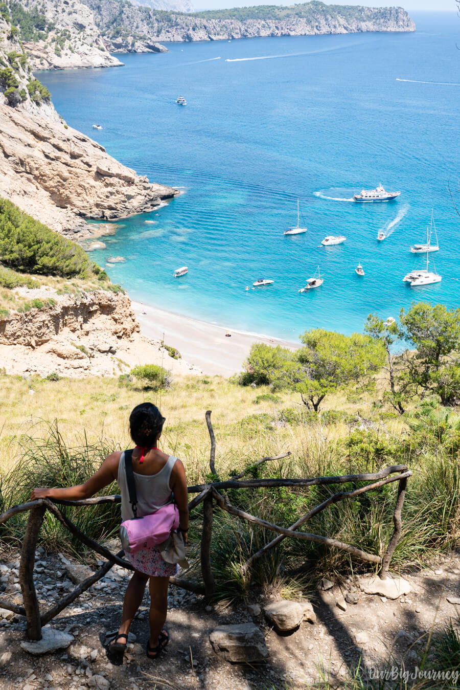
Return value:
<svg viewBox="0 0 460 690">
<path fill-rule="evenodd" d="M 0 318 L 0 361 L 8 374 L 113 376 L 137 364 L 199 373 L 183 359 L 172 359 L 161 342 L 139 333 L 128 295 L 104 290 L 58 295 L 53 288 L 17 291 L 30 301 L 39 298 L 44 306 Z"/>
</svg>

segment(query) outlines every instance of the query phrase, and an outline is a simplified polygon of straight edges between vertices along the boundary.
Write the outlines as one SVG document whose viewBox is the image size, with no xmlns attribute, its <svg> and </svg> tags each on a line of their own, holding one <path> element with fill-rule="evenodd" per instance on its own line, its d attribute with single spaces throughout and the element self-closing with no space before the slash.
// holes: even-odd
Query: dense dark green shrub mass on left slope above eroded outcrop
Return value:
<svg viewBox="0 0 460 690">
<path fill-rule="evenodd" d="M 92 262 L 81 247 L 1 198 L 0 261 L 27 273 L 92 275 Z"/>
</svg>

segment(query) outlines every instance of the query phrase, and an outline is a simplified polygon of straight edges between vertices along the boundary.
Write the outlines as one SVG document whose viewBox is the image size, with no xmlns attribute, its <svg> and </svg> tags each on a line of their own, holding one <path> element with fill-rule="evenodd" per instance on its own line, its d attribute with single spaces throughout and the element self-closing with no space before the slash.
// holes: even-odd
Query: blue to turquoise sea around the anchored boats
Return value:
<svg viewBox="0 0 460 690">
<path fill-rule="evenodd" d="M 450 179 L 460 208 L 460 18 L 412 16 L 416 33 L 172 43 L 162 55 L 119 56 L 121 68 L 41 72 L 71 126 L 183 190 L 121 221 L 94 260 L 126 257 L 107 270 L 141 302 L 289 339 L 318 326 L 362 331 L 368 313 L 397 317 L 412 300 L 460 306 L 448 191 Z M 350 201 L 379 182 L 401 196 Z M 308 233 L 285 237 L 297 198 Z M 426 240 L 432 209 L 441 250 L 430 256 L 443 279 L 410 288 L 403 275 L 426 256 L 409 247 Z M 331 234 L 347 240 L 319 247 Z M 174 279 L 184 264 L 188 275 Z M 323 286 L 299 294 L 317 266 Z M 259 277 L 274 284 L 246 291 Z"/>
</svg>

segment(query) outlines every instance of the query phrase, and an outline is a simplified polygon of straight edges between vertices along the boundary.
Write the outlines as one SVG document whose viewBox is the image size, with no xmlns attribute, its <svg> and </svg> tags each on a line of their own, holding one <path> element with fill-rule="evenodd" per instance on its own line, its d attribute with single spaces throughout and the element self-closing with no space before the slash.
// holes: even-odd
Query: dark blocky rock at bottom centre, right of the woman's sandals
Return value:
<svg viewBox="0 0 460 690">
<path fill-rule="evenodd" d="M 227 661 L 252 663 L 268 658 L 265 638 L 253 623 L 219 625 L 209 636 L 212 649 Z"/>
</svg>

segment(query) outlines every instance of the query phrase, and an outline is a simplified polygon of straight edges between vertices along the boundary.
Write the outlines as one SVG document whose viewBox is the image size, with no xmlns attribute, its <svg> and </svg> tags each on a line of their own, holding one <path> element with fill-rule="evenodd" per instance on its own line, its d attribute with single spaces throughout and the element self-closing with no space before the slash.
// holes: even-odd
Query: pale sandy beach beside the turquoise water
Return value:
<svg viewBox="0 0 460 690">
<path fill-rule="evenodd" d="M 231 337 L 226 337 L 227 329 L 221 326 L 172 314 L 139 302 L 132 302 L 132 308 L 143 335 L 157 340 L 163 339 L 164 333 L 166 345 L 177 348 L 186 362 L 199 366 L 208 375 L 231 376 L 241 371 L 243 359 L 248 356 L 254 342 L 293 348 L 299 346 L 294 338 L 288 342 L 242 331 L 231 331 Z"/>
</svg>

